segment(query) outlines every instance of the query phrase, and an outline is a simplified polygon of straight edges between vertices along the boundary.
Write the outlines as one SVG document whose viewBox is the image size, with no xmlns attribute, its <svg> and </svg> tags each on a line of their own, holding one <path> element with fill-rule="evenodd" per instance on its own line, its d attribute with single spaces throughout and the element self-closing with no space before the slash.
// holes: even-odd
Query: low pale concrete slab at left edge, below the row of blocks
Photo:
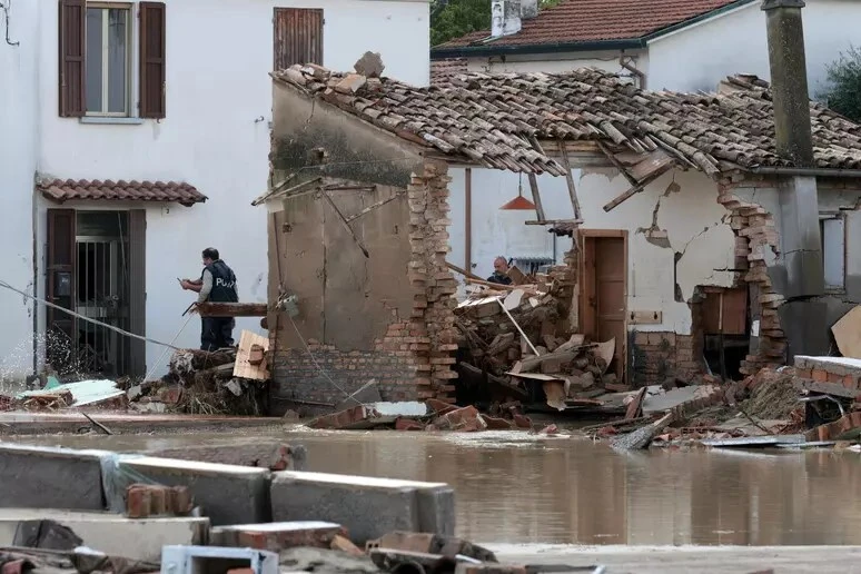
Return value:
<svg viewBox="0 0 861 574">
<path fill-rule="evenodd" d="M 209 518 L 131 519 L 111 513 L 51 508 L 0 508 L 0 546 L 11 546 L 20 524 L 55 521 L 77 534 L 85 546 L 111 556 L 158 562 L 168 544 L 207 544 Z"/>
</svg>

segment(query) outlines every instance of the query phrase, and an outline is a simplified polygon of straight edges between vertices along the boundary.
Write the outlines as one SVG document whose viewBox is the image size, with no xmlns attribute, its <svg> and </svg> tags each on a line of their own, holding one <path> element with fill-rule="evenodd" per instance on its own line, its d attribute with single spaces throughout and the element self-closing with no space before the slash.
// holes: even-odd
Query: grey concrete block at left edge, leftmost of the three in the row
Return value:
<svg viewBox="0 0 861 574">
<path fill-rule="evenodd" d="M 110 453 L 0 445 L 0 508 L 102 511 L 101 459 Z"/>
</svg>

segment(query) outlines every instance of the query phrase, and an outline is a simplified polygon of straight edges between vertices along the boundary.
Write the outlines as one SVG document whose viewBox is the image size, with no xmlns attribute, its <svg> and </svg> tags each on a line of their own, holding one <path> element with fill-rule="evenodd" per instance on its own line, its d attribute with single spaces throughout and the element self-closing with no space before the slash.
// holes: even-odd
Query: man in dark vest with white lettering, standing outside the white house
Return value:
<svg viewBox="0 0 861 574">
<path fill-rule="evenodd" d="M 196 281 L 184 279 L 182 289 L 197 291 L 197 303 L 238 303 L 239 291 L 236 286 L 236 275 L 218 256 L 218 249 L 204 249 L 204 273 Z M 200 348 L 217 350 L 234 346 L 232 317 L 200 317 Z"/>
</svg>

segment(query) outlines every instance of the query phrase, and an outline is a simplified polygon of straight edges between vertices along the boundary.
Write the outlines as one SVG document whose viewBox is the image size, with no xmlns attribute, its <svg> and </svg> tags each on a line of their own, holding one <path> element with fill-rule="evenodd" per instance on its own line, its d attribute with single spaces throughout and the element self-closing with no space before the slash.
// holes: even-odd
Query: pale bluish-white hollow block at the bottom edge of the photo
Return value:
<svg viewBox="0 0 861 574">
<path fill-rule="evenodd" d="M 278 555 L 261 550 L 165 546 L 161 551 L 161 572 L 165 574 L 207 574 L 229 572 L 243 566 L 254 574 L 279 573 Z"/>
</svg>

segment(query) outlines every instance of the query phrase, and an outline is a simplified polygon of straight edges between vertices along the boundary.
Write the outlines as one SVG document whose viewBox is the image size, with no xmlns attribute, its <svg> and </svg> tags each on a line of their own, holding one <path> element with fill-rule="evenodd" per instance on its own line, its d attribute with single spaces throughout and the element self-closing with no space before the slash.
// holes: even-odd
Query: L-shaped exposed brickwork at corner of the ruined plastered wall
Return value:
<svg viewBox="0 0 861 574">
<path fill-rule="evenodd" d="M 370 352 L 338 349 L 316 340 L 308 340 L 307 350 L 278 348 L 273 357 L 273 414 L 288 408 L 313 414 L 330 410 L 370 379 L 377 380 L 384 400 L 454 402 L 456 281 L 445 261 L 448 181 L 445 162 L 426 161 L 407 188 L 410 261 L 403 288 L 413 293 L 410 316 L 393 313 L 386 335 L 375 340 Z M 289 320 L 279 324 L 281 333 L 293 329 Z M 275 329 L 270 334 L 278 336 Z"/>
</svg>

